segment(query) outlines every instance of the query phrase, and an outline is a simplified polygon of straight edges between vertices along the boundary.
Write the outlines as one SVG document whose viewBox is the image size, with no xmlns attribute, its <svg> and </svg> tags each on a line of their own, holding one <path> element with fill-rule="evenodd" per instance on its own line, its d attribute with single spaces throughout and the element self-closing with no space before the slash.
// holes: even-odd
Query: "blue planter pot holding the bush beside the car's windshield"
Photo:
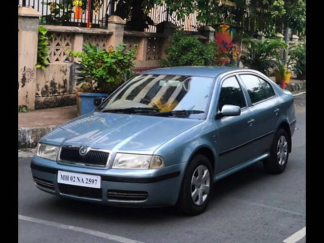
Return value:
<svg viewBox="0 0 324 243">
<path fill-rule="evenodd" d="M 73 90 L 76 94 L 76 107 L 77 107 L 77 115 L 84 115 L 94 111 L 97 107 L 93 104 L 93 101 L 97 97 L 106 98 L 107 94 L 100 93 L 83 93 L 78 92 L 76 89 Z"/>
</svg>

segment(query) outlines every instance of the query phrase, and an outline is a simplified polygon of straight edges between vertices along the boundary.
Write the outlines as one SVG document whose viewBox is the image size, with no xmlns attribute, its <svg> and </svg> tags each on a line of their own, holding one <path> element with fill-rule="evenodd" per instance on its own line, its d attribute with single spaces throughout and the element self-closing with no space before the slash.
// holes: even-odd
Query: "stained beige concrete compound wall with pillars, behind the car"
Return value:
<svg viewBox="0 0 324 243">
<path fill-rule="evenodd" d="M 37 57 L 38 16 L 32 8 L 18 7 L 18 55 L 19 55 L 19 106 L 28 109 L 42 109 L 74 105 L 73 94 L 75 63 L 68 50 L 82 51 L 85 42 L 91 42 L 102 49 L 127 44 L 127 48 L 137 45 L 134 61 L 140 72 L 159 67 L 159 61 L 166 58 L 164 50 L 169 45 L 169 36 L 176 26 L 169 22 L 157 25 L 159 33 L 124 30 L 126 22 L 118 16 L 110 16 L 107 29 L 43 25 L 53 36 L 49 38 L 49 62 L 45 70 L 35 68 Z M 211 29 L 210 31 L 214 31 Z M 207 41 L 210 32 L 196 35 Z"/>
</svg>

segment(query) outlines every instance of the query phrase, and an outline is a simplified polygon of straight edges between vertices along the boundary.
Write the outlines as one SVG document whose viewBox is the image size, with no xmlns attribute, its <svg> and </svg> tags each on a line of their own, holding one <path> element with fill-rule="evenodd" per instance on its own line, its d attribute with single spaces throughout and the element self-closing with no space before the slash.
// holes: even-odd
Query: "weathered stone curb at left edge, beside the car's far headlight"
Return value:
<svg viewBox="0 0 324 243">
<path fill-rule="evenodd" d="M 38 141 L 59 125 L 18 128 L 18 149 L 35 148 Z"/>
</svg>

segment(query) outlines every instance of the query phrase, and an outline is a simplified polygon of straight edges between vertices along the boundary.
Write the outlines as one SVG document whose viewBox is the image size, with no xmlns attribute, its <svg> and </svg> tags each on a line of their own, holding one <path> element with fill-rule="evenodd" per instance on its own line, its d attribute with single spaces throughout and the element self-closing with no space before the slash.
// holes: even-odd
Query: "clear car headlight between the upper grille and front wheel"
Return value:
<svg viewBox="0 0 324 243">
<path fill-rule="evenodd" d="M 158 169 L 165 167 L 164 160 L 158 155 L 117 153 L 113 169 Z"/>
</svg>

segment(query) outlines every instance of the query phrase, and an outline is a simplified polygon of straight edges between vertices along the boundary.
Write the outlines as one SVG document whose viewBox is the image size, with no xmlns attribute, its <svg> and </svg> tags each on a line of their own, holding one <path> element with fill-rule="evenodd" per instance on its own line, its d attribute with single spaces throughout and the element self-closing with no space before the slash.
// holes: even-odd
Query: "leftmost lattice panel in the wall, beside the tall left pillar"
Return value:
<svg viewBox="0 0 324 243">
<path fill-rule="evenodd" d="M 64 62 L 68 61 L 69 53 L 68 49 L 73 49 L 73 34 L 69 33 L 53 33 L 53 36 L 49 38 L 49 62 Z"/>
</svg>

